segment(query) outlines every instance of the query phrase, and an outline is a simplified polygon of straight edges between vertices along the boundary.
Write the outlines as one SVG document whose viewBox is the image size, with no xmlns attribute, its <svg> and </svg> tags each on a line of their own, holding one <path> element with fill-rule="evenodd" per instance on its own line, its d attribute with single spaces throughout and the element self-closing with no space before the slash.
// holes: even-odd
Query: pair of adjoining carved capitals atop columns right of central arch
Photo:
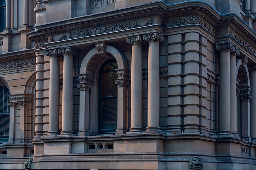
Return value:
<svg viewBox="0 0 256 170">
<path fill-rule="evenodd" d="M 163 42 L 164 34 L 158 32 L 158 31 L 155 31 L 155 32 L 151 32 L 151 33 L 138 34 L 138 35 L 132 35 L 132 36 L 126 37 L 126 42 L 128 44 L 133 44 L 133 43 L 142 44 L 144 42 L 149 42 L 149 41 Z"/>
</svg>

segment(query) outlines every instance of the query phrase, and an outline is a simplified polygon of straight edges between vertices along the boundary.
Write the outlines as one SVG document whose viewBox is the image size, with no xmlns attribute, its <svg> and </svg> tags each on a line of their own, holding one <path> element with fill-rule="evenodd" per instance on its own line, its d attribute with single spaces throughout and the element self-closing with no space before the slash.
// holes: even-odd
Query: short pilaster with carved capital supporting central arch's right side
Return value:
<svg viewBox="0 0 256 170">
<path fill-rule="evenodd" d="M 129 70 L 117 69 L 117 129 L 116 134 L 125 134 L 127 130 L 127 86 L 129 85 Z M 142 73 L 142 72 L 141 72 Z"/>
</svg>

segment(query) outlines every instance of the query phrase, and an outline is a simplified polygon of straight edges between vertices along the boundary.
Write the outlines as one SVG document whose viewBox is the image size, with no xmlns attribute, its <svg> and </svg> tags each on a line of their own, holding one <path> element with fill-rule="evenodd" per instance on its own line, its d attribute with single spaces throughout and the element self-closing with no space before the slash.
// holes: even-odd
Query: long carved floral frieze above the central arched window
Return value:
<svg viewBox="0 0 256 170">
<path fill-rule="evenodd" d="M 94 28 L 87 29 L 87 30 L 78 30 L 78 31 L 70 32 L 69 36 L 62 35 L 59 39 L 50 37 L 49 42 L 74 39 L 74 38 L 80 38 L 80 37 L 88 37 L 88 36 L 93 36 L 93 35 L 98 35 L 98 34 L 111 33 L 111 32 L 115 32 L 115 31 L 128 30 L 128 29 L 136 28 L 136 27 L 144 27 L 144 26 L 147 26 L 148 24 L 153 25 L 154 20 L 149 19 L 144 24 L 139 24 L 137 21 L 134 21 L 132 23 L 132 25 L 130 22 L 127 22 L 127 23 L 118 23 L 118 24 L 114 24 L 114 25 L 110 25 L 110 26 L 96 26 Z"/>
</svg>

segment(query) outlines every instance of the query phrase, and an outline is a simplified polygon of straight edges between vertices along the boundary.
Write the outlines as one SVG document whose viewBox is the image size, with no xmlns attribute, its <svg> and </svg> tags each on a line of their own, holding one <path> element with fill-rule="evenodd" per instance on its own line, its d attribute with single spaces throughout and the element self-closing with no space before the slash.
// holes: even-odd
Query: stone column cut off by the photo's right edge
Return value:
<svg viewBox="0 0 256 170">
<path fill-rule="evenodd" d="M 251 103 L 250 103 L 250 137 L 251 141 L 256 142 L 256 65 L 252 65 L 250 71 L 250 85 L 251 85 Z"/>
</svg>

